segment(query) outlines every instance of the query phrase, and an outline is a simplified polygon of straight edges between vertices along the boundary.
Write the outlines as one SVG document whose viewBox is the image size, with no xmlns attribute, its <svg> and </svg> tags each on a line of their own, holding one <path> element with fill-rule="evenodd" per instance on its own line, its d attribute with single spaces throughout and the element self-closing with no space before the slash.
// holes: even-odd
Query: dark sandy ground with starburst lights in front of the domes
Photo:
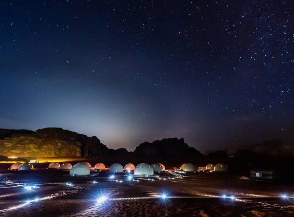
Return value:
<svg viewBox="0 0 294 217">
<path fill-rule="evenodd" d="M 179 177 L 170 173 L 161 174 L 160 179 L 127 181 L 124 175 L 109 180 L 107 173 L 92 178 L 62 177 L 64 173 L 6 172 L 8 183 L 0 185 L 0 217 L 294 216 L 294 198 L 281 198 L 281 194 L 294 195 L 292 185 L 204 174 Z M 25 185 L 38 188 L 27 190 Z M 168 198 L 162 199 L 162 194 Z M 224 194 L 236 199 L 221 198 Z M 98 203 L 101 195 L 107 200 Z"/>
</svg>

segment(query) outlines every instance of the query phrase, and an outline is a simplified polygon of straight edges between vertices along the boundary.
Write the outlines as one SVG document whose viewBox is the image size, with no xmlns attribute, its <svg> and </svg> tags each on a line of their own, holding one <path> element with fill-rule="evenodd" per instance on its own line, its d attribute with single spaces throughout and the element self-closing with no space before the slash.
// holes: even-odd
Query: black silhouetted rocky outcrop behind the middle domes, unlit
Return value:
<svg viewBox="0 0 294 217">
<path fill-rule="evenodd" d="M 168 138 L 152 143 L 144 142 L 136 147 L 134 153 L 139 156 L 202 156 L 195 148 L 188 146 L 183 138 Z"/>
</svg>

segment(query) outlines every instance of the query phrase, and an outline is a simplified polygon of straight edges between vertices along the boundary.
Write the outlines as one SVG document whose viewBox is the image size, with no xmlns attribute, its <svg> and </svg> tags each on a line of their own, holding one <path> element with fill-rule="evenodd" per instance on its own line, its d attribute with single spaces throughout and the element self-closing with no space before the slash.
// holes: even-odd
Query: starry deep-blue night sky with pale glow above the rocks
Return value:
<svg viewBox="0 0 294 217">
<path fill-rule="evenodd" d="M 294 1 L 1 0 L 0 75 L 0 128 L 294 141 Z"/>
</svg>

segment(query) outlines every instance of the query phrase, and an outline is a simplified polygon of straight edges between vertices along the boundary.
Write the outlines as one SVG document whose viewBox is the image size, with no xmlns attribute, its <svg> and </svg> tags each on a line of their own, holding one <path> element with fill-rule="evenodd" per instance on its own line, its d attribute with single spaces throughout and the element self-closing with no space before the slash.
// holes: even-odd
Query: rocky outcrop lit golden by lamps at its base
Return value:
<svg viewBox="0 0 294 217">
<path fill-rule="evenodd" d="M 0 130 L 0 155 L 17 157 L 101 156 L 108 148 L 96 137 L 62 128 Z"/>
</svg>

